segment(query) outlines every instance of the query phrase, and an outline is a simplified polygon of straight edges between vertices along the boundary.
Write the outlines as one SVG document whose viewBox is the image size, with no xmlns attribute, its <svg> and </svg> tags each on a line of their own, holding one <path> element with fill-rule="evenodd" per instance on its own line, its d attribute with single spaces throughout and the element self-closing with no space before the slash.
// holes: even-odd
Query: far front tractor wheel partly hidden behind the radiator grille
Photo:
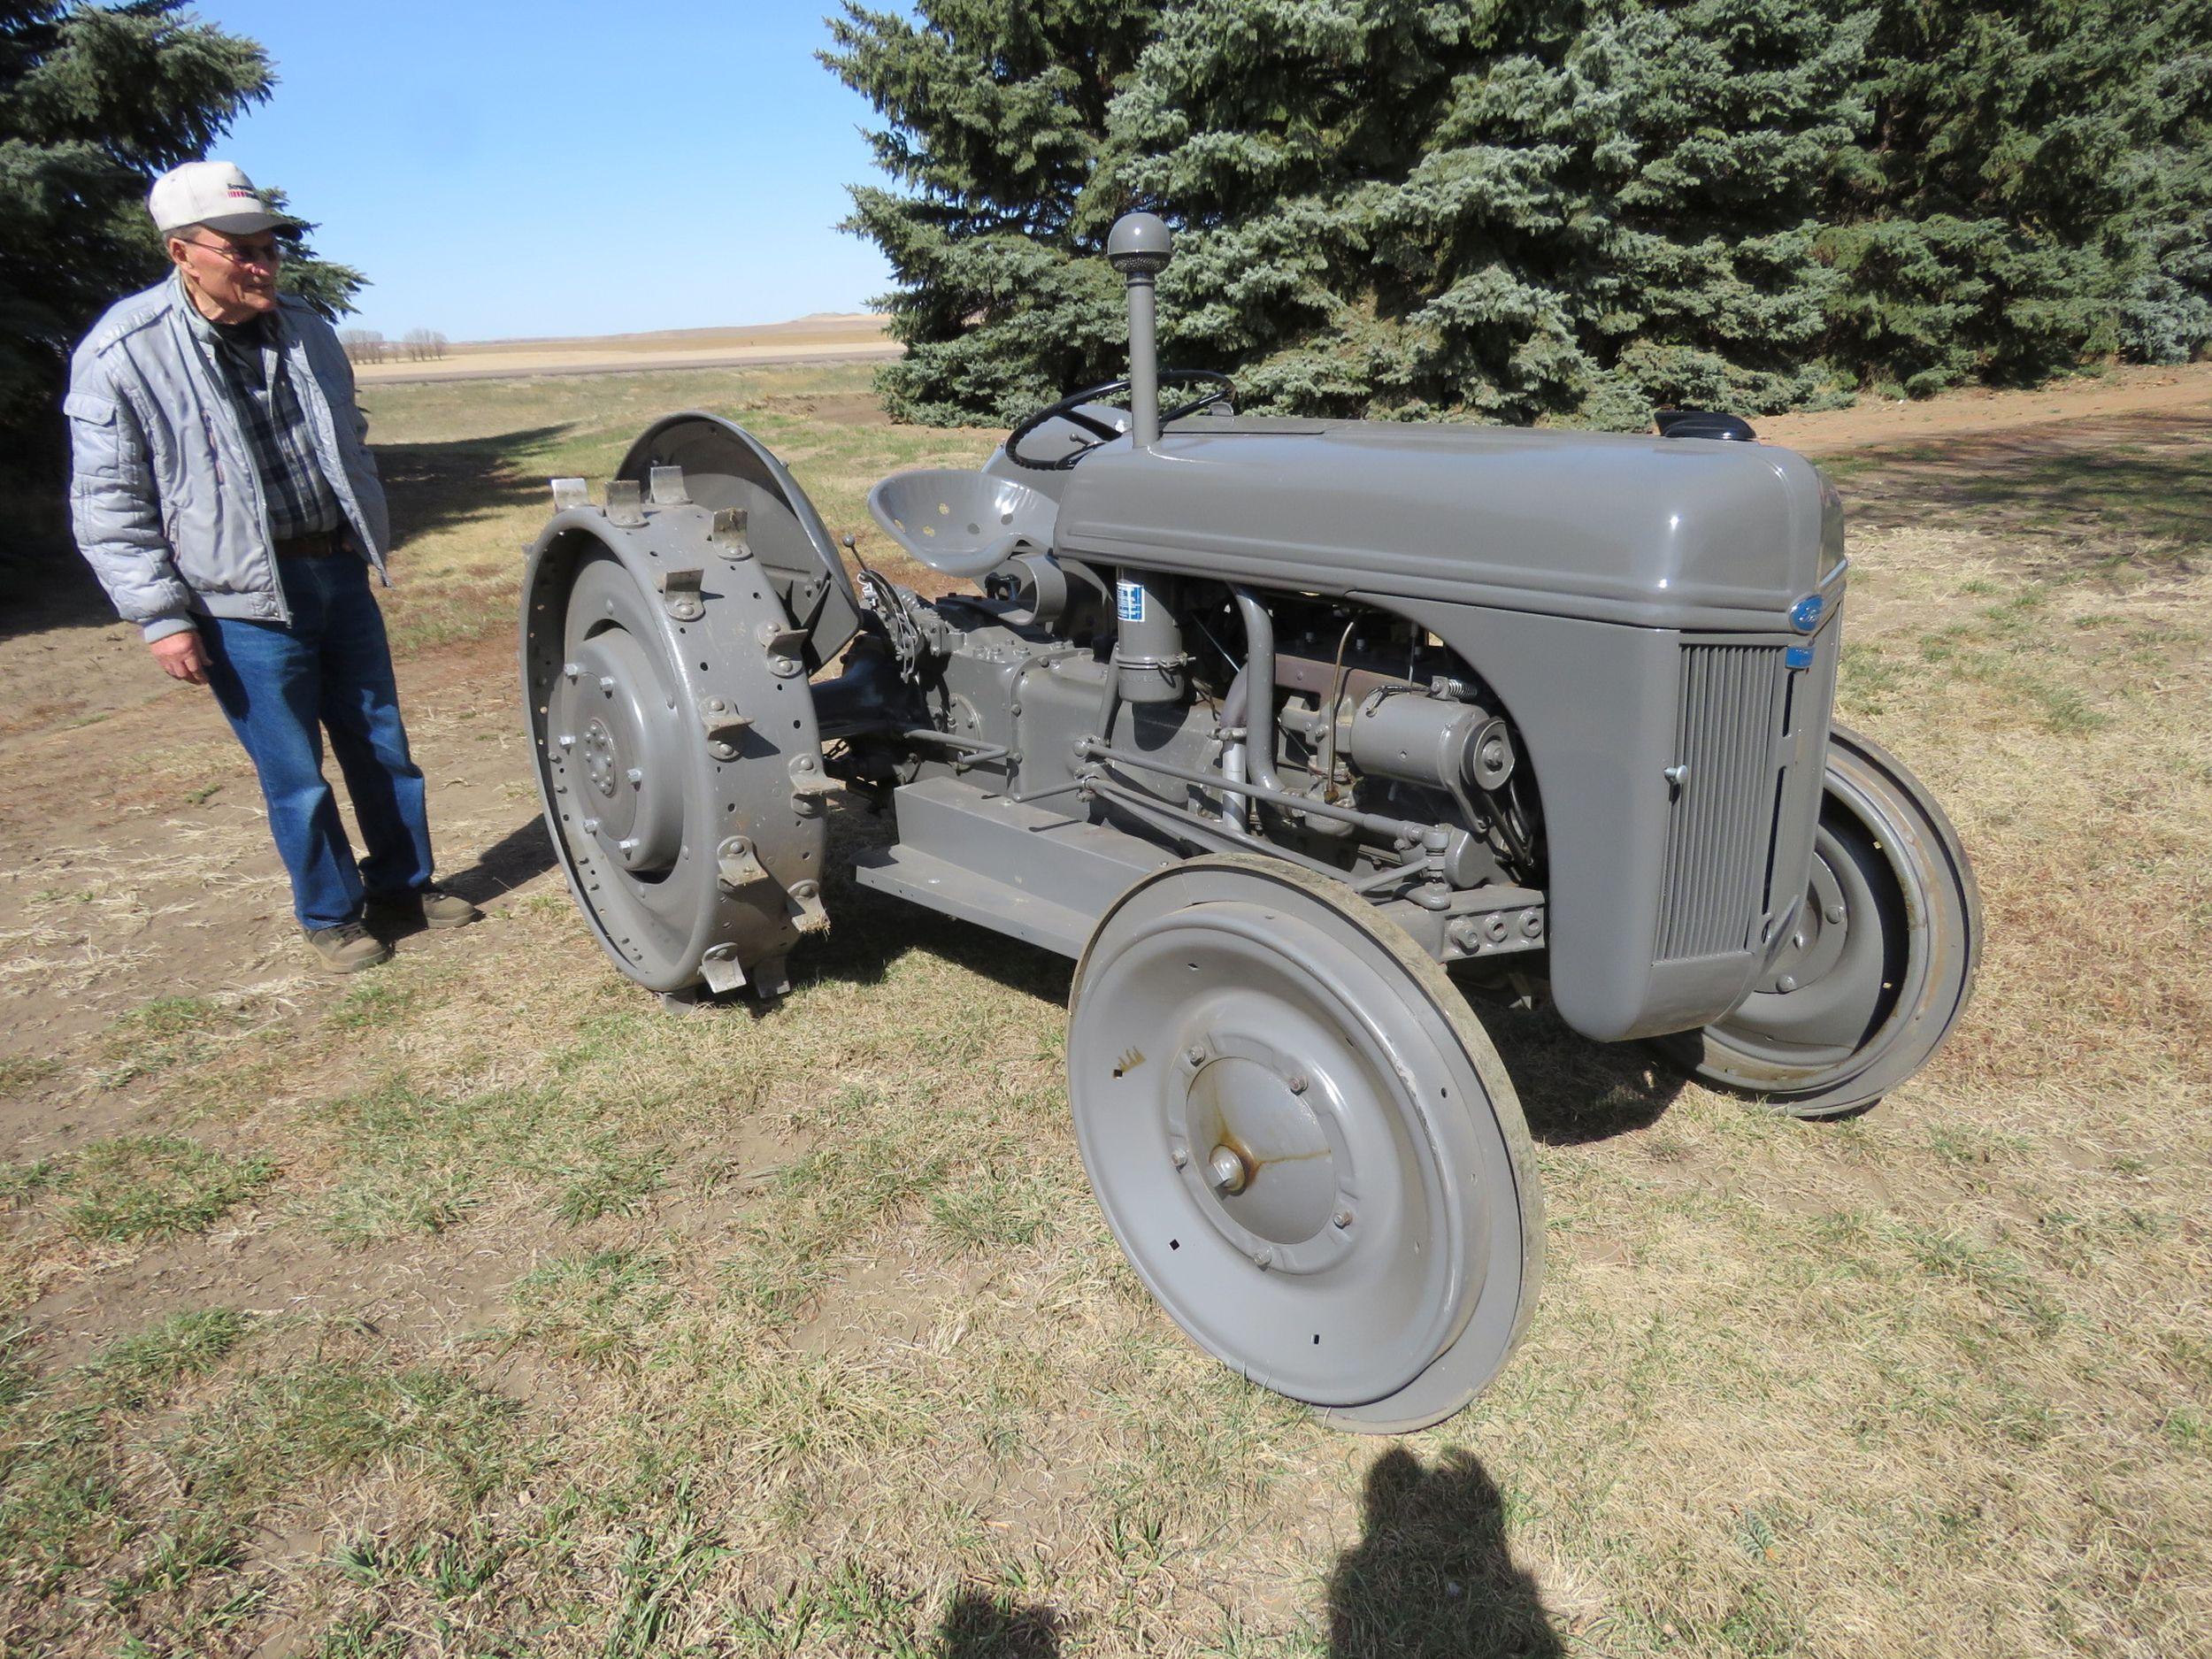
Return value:
<svg viewBox="0 0 2212 1659">
<path fill-rule="evenodd" d="M 1790 949 L 1734 1013 L 1659 1048 L 1792 1117 L 1865 1110 L 1958 1026 L 1980 956 L 1958 830 L 1896 757 L 1838 726 Z"/>
</svg>

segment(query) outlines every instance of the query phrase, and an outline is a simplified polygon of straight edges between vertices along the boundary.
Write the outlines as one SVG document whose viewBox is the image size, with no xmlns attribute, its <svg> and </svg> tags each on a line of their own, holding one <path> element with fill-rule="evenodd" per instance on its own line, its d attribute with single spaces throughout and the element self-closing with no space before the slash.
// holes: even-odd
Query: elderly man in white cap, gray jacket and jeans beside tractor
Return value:
<svg viewBox="0 0 2212 1659">
<path fill-rule="evenodd" d="M 385 580 L 385 491 L 354 374 L 330 325 L 276 292 L 285 221 L 239 168 L 190 161 L 146 206 L 175 272 L 111 307 L 71 365 L 77 546 L 155 661 L 212 688 L 261 776 L 312 956 L 352 973 L 392 956 L 378 933 L 478 918 L 431 883 L 367 580 Z"/>
</svg>

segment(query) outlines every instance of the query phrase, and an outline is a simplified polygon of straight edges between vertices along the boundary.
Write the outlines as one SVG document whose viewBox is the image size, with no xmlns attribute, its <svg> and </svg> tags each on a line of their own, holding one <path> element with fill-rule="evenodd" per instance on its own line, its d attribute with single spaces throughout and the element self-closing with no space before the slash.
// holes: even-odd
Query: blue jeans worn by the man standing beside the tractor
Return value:
<svg viewBox="0 0 2212 1659">
<path fill-rule="evenodd" d="M 292 911 L 307 929 L 361 920 L 363 891 L 427 887 L 422 768 L 407 752 L 385 617 L 369 566 L 352 553 L 276 560 L 292 626 L 195 617 L 208 686 L 254 761 Z M 354 796 L 367 856 L 354 849 L 323 781 L 323 732 Z"/>
</svg>

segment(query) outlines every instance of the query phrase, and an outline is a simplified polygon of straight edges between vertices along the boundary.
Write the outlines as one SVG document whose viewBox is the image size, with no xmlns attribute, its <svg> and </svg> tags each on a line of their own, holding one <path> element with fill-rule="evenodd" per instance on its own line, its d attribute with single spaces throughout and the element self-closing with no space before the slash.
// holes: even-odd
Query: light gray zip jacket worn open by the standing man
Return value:
<svg viewBox="0 0 2212 1659">
<path fill-rule="evenodd" d="M 292 619 L 261 476 L 190 303 L 170 276 L 108 307 L 77 345 L 62 405 L 77 549 L 148 641 L 190 628 L 195 611 Z M 281 301 L 279 330 L 316 460 L 383 577 L 392 531 L 354 369 L 330 323 L 296 299 Z"/>
</svg>

